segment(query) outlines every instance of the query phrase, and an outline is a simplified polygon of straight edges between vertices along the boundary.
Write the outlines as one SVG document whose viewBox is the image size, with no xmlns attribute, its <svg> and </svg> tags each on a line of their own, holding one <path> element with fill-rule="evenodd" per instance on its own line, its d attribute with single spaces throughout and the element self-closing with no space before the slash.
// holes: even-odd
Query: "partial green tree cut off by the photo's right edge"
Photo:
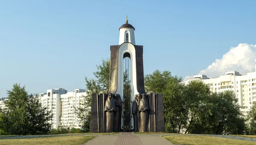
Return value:
<svg viewBox="0 0 256 145">
<path fill-rule="evenodd" d="M 247 116 L 247 131 L 248 134 L 256 134 L 256 105 L 253 104 L 253 107 L 248 112 Z"/>
</svg>

